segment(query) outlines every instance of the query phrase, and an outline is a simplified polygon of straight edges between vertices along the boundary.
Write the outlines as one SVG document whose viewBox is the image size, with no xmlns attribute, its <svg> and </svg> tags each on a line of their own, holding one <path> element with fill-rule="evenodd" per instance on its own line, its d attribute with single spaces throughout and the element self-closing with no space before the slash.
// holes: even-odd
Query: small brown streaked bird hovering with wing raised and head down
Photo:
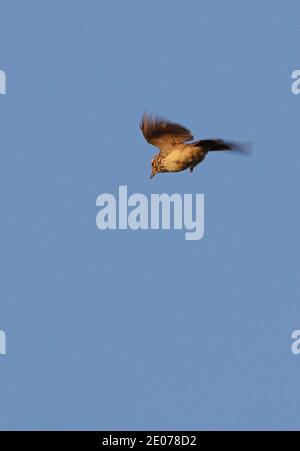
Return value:
<svg viewBox="0 0 300 451">
<path fill-rule="evenodd" d="M 151 179 L 160 172 L 181 172 L 189 169 L 192 173 L 209 152 L 245 150 L 241 143 L 222 139 L 193 141 L 194 137 L 186 127 L 147 113 L 142 116 L 140 129 L 146 141 L 160 150 L 151 161 Z"/>
</svg>

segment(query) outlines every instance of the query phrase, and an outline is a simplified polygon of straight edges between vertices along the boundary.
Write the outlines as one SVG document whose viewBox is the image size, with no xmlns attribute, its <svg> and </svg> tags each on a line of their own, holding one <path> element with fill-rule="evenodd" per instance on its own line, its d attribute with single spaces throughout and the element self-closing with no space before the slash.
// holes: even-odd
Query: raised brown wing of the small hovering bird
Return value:
<svg viewBox="0 0 300 451">
<path fill-rule="evenodd" d="M 140 128 L 145 139 L 163 153 L 172 151 L 172 147 L 176 144 L 193 139 L 191 132 L 182 125 L 147 114 L 143 115 Z"/>
</svg>

